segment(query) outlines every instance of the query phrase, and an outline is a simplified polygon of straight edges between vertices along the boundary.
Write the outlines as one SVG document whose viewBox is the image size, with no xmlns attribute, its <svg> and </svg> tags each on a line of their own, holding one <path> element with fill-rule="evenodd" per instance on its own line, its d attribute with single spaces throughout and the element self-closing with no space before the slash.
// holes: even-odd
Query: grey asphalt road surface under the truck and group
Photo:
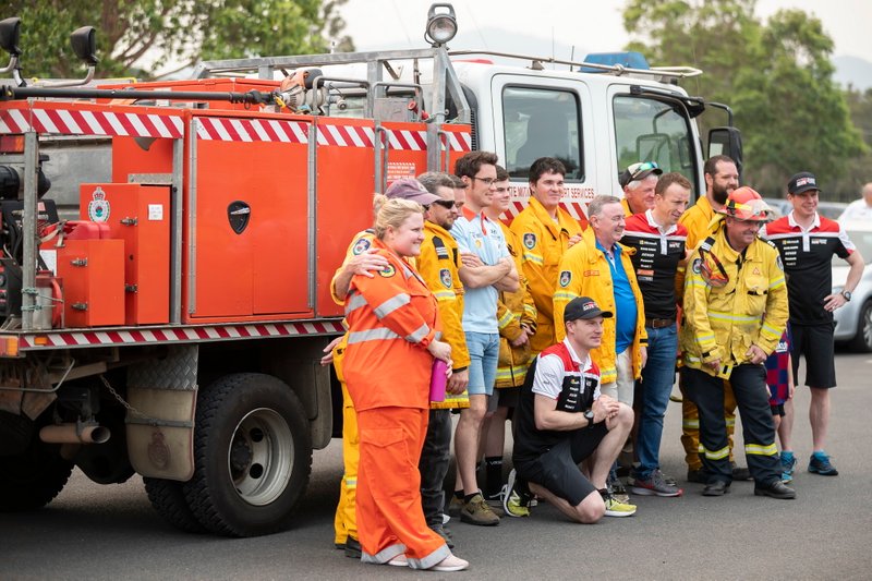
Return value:
<svg viewBox="0 0 872 581">
<path fill-rule="evenodd" d="M 750 482 L 706 498 L 702 485 L 683 483 L 681 498 L 633 497 L 634 517 L 595 525 L 570 523 L 546 504 L 496 528 L 452 521 L 455 552 L 472 567 L 440 576 L 334 549 L 342 472 L 334 441 L 315 455 L 294 526 L 257 538 L 178 532 L 150 508 L 138 476 L 100 486 L 76 471 L 47 508 L 0 516 L 0 579 L 870 579 L 872 355 L 840 353 L 837 368 L 827 450 L 839 475 L 806 472 L 809 395 L 800 387 L 796 500 L 755 497 Z M 680 422 L 680 404 L 670 403 L 663 468 L 682 480 Z"/>
</svg>

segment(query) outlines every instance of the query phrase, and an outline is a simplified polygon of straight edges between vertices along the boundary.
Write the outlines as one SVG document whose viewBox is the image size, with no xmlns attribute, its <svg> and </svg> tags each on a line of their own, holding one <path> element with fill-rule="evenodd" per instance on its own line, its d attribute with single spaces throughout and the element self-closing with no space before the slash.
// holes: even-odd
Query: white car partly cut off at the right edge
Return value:
<svg viewBox="0 0 872 581">
<path fill-rule="evenodd" d="M 860 283 L 851 293 L 851 300 L 841 308 L 836 308 L 833 318 L 836 323 L 835 340 L 847 343 L 855 351 L 872 352 L 872 223 L 844 222 L 841 225 L 851 242 L 863 255 L 865 268 Z M 841 292 L 848 278 L 848 263 L 833 257 L 833 292 Z"/>
</svg>

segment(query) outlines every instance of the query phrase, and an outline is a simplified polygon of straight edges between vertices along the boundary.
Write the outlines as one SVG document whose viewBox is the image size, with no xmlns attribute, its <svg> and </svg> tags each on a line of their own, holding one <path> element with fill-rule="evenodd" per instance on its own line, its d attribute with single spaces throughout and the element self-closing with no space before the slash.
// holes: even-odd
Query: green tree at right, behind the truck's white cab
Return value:
<svg viewBox="0 0 872 581">
<path fill-rule="evenodd" d="M 736 113 L 744 181 L 779 194 L 801 169 L 832 184 L 865 146 L 833 82 L 833 41 L 820 20 L 779 11 L 766 23 L 756 0 L 630 0 L 625 27 L 652 64 L 689 64 L 705 74 L 685 87 Z M 719 113 L 718 113 L 719 116 Z M 718 119 L 704 118 L 703 130 Z M 719 117 L 723 122 L 723 117 Z"/>
</svg>

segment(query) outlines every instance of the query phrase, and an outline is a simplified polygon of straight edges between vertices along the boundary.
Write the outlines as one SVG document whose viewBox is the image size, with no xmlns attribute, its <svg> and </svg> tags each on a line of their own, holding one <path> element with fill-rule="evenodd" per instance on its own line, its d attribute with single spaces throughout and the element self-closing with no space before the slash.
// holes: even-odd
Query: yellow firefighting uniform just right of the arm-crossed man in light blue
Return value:
<svg viewBox="0 0 872 581">
<path fill-rule="evenodd" d="M 502 235 L 506 237 L 506 246 L 514 259 L 514 268 L 521 277 L 521 288 L 516 292 L 500 292 L 497 302 L 497 324 L 499 325 L 499 364 L 495 387 L 518 387 L 523 385 L 526 377 L 526 367 L 530 363 L 530 341 L 521 347 L 512 347 L 513 341 L 521 335 L 523 323 L 531 332 L 536 332 L 536 305 L 530 292 L 530 285 L 523 275 L 523 253 L 518 235 L 509 227 L 500 222 Z"/>
</svg>

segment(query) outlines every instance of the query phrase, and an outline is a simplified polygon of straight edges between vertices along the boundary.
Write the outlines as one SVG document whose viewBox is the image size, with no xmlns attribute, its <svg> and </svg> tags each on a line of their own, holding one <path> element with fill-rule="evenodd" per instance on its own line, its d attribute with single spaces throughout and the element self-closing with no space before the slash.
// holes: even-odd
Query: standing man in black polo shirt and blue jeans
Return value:
<svg viewBox="0 0 872 581">
<path fill-rule="evenodd" d="M 634 494 L 681 496 L 682 491 L 661 472 L 663 416 L 675 383 L 678 352 L 676 329 L 676 274 L 685 259 L 688 230 L 678 219 L 688 207 L 691 184 L 678 172 L 661 177 L 654 187 L 654 207 L 627 218 L 620 242 L 634 249 L 630 255 L 642 290 L 647 332 L 647 363 L 642 370 L 639 429 L 635 450 L 639 467 L 630 489 Z"/>
</svg>

